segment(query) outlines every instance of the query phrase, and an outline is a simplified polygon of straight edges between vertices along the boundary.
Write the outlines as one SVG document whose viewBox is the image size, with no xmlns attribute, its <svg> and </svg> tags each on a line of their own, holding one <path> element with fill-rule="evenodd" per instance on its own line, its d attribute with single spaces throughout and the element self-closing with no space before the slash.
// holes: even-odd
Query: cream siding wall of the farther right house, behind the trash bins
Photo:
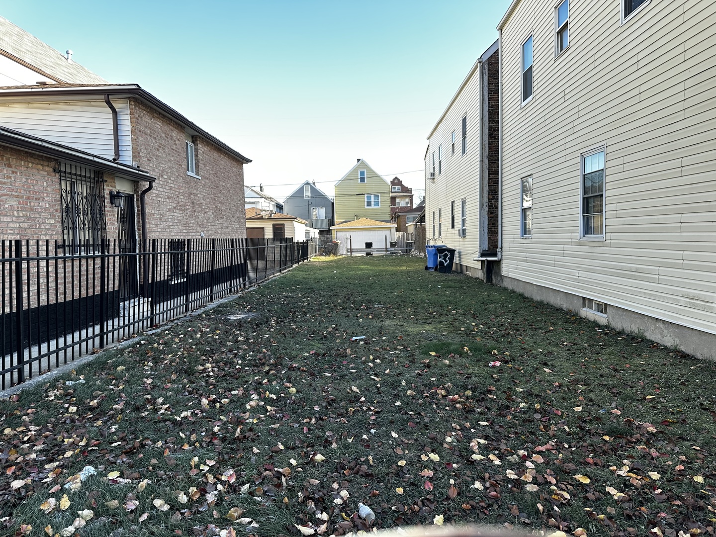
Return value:
<svg viewBox="0 0 716 537">
<path fill-rule="evenodd" d="M 463 117 L 468 118 L 467 150 L 463 155 Z M 452 153 L 452 133 L 455 131 L 455 154 Z M 442 144 L 442 173 L 438 173 L 438 147 Z M 432 172 L 432 153 L 435 153 L 435 181 Z M 467 203 L 467 233 L 458 237 L 460 202 Z M 455 202 L 455 228 L 450 227 L 451 203 Z M 480 69 L 475 69 L 444 117 L 428 139 L 425 158 L 425 226 L 432 243 L 455 248 L 455 263 L 480 268 L 473 261 L 480 251 Z M 438 236 L 437 214 L 442 211 L 442 234 Z M 432 236 L 432 213 L 435 212 L 435 237 Z M 458 270 L 458 267 L 455 267 Z"/>
</svg>

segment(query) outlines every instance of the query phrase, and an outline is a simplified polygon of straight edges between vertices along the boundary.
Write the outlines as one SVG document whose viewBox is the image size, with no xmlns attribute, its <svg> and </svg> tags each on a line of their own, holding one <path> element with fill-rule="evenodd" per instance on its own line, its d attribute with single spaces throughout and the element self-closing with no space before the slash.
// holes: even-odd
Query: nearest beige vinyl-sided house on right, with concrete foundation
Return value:
<svg viewBox="0 0 716 537">
<path fill-rule="evenodd" d="M 503 284 L 714 358 L 716 4 L 561 4 L 498 26 Z"/>
</svg>

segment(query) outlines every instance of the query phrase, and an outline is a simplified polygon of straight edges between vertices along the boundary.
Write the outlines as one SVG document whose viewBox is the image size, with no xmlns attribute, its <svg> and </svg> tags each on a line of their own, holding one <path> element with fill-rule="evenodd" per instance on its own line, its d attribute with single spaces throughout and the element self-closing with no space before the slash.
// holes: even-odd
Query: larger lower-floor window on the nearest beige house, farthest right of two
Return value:
<svg viewBox="0 0 716 537">
<path fill-rule="evenodd" d="M 604 147 L 581 156 L 581 236 L 604 237 Z"/>
</svg>

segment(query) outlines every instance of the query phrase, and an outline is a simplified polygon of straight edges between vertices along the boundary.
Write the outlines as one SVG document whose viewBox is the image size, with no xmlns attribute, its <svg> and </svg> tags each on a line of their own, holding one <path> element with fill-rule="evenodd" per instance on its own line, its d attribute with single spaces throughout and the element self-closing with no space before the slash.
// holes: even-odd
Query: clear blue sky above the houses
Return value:
<svg viewBox="0 0 716 537">
<path fill-rule="evenodd" d="M 140 84 L 253 162 L 247 185 L 329 195 L 364 158 L 424 188 L 426 137 L 509 0 L 0 0 L 110 82 Z"/>
</svg>

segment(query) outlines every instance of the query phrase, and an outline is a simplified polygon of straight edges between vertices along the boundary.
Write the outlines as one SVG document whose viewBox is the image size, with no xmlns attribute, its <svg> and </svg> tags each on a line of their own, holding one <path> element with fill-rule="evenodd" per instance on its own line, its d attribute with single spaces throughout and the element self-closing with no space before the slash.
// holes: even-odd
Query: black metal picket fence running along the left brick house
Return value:
<svg viewBox="0 0 716 537">
<path fill-rule="evenodd" d="M 316 254 L 313 241 L 291 239 L 154 239 L 140 253 L 126 246 L 0 241 L 0 389 Z"/>
</svg>

